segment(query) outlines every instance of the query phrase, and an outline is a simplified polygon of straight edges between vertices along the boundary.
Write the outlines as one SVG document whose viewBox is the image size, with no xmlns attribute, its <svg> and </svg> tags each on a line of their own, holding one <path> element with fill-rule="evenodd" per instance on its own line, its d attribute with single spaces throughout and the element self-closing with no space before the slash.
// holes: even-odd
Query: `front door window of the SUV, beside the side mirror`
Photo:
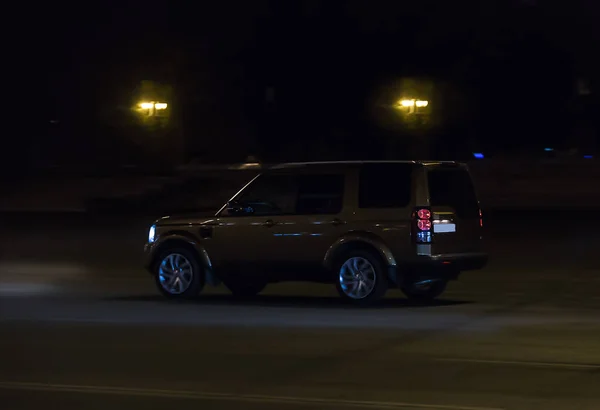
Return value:
<svg viewBox="0 0 600 410">
<path fill-rule="evenodd" d="M 292 214 L 298 181 L 292 175 L 261 175 L 236 200 L 254 209 L 254 215 Z"/>
</svg>

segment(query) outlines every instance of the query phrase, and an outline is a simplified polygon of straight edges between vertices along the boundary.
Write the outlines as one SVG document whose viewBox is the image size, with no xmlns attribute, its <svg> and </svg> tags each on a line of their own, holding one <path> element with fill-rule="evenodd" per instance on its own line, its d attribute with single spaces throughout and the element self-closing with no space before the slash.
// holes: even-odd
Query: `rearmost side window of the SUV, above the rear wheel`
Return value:
<svg viewBox="0 0 600 410">
<path fill-rule="evenodd" d="M 404 208 L 410 204 L 413 164 L 364 164 L 358 186 L 359 208 Z"/>
</svg>

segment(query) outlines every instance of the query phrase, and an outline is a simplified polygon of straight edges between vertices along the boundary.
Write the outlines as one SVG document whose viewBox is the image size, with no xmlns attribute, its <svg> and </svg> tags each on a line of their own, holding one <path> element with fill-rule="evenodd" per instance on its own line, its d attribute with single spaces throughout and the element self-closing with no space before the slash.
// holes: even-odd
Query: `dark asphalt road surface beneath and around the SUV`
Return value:
<svg viewBox="0 0 600 410">
<path fill-rule="evenodd" d="M 372 309 L 311 284 L 166 302 L 140 268 L 148 222 L 2 220 L 1 408 L 600 408 L 593 215 L 498 216 L 487 269 Z"/>
</svg>

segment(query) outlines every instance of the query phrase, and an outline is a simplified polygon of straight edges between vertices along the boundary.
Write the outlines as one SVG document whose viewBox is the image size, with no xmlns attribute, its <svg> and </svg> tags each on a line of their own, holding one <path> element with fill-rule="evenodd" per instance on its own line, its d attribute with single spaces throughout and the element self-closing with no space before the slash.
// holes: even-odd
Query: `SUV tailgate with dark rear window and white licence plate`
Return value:
<svg viewBox="0 0 600 410">
<path fill-rule="evenodd" d="M 432 254 L 481 252 L 481 211 L 468 168 L 436 164 L 426 169 L 433 219 Z"/>
</svg>

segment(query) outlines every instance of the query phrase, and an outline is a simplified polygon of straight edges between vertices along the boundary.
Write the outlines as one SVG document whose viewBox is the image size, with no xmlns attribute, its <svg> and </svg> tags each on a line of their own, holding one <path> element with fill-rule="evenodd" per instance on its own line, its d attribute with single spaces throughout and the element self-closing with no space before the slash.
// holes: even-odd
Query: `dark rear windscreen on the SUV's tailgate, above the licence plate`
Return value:
<svg viewBox="0 0 600 410">
<path fill-rule="evenodd" d="M 434 168 L 428 171 L 431 206 L 449 206 L 461 218 L 479 218 L 479 203 L 464 168 Z"/>
</svg>

